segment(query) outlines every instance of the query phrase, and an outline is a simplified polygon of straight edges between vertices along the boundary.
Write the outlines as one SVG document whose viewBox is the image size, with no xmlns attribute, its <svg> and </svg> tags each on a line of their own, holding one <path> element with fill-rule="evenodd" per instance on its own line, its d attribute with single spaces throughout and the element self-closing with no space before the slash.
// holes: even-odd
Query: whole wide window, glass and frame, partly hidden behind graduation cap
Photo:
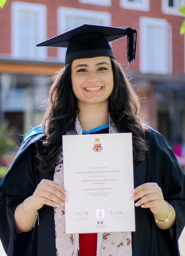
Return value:
<svg viewBox="0 0 185 256">
<path fill-rule="evenodd" d="M 59 7 L 58 8 L 58 35 L 83 24 L 111 25 L 111 14 L 92 10 Z M 66 48 L 58 47 L 58 59 L 64 62 Z"/>
</svg>

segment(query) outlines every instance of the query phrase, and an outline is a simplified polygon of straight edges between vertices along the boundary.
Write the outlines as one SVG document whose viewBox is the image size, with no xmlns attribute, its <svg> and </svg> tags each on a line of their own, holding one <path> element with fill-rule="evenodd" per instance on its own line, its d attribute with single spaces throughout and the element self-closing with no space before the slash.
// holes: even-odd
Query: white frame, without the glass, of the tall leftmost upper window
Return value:
<svg viewBox="0 0 185 256">
<path fill-rule="evenodd" d="M 11 53 L 12 57 L 15 59 L 20 59 L 19 54 L 19 10 L 32 10 L 40 13 L 39 15 L 39 38 L 38 43 L 47 39 L 47 7 L 43 4 L 34 4 L 34 3 L 25 3 L 13 1 L 11 4 Z M 47 58 L 47 48 L 40 47 L 38 50 L 37 56 L 33 58 L 26 59 L 34 59 L 34 60 L 45 60 Z"/>
</svg>

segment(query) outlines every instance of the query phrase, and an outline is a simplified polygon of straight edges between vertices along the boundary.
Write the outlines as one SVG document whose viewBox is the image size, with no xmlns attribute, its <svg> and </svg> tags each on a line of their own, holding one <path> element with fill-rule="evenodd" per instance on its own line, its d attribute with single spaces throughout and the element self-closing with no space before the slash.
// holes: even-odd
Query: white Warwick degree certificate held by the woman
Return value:
<svg viewBox="0 0 185 256">
<path fill-rule="evenodd" d="M 63 157 L 66 233 L 135 231 L 132 134 L 64 135 Z"/>
</svg>

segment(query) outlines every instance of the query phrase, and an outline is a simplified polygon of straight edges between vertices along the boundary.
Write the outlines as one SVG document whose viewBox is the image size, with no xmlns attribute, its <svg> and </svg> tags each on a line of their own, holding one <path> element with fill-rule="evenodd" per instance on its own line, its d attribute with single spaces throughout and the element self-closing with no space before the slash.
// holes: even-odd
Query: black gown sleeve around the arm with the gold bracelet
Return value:
<svg viewBox="0 0 185 256">
<path fill-rule="evenodd" d="M 149 145 L 147 182 L 156 182 L 162 189 L 164 200 L 175 209 L 175 226 L 166 232 L 170 232 L 173 239 L 173 255 L 178 255 L 178 239 L 185 225 L 185 174 L 160 133 L 149 127 L 146 137 Z"/>
</svg>

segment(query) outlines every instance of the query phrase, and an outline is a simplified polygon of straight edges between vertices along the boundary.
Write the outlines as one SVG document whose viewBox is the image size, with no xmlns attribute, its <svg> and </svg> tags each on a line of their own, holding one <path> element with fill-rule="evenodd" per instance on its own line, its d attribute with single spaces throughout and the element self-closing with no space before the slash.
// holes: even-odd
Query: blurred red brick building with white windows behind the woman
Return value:
<svg viewBox="0 0 185 256">
<path fill-rule="evenodd" d="M 7 0 L 0 9 L 1 121 L 19 134 L 40 123 L 49 78 L 63 65 L 65 49 L 36 47 L 82 24 L 138 30 L 136 60 L 126 71 L 142 98 L 142 114 L 172 143 L 185 139 L 185 53 L 178 12 L 184 0 Z M 126 39 L 112 42 L 127 67 Z M 42 103 L 43 102 L 43 103 Z"/>
</svg>

